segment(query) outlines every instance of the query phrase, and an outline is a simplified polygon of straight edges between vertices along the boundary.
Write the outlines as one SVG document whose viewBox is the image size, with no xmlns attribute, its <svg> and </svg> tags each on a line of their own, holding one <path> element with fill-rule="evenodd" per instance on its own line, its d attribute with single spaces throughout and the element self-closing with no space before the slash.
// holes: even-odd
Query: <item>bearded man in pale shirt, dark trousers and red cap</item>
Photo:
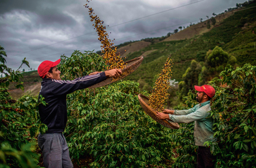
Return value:
<svg viewBox="0 0 256 168">
<path fill-rule="evenodd" d="M 210 117 L 210 99 L 215 95 L 214 87 L 210 85 L 195 86 L 197 90 L 197 104 L 189 110 L 168 110 L 163 113 L 156 114 L 158 120 L 172 120 L 178 123 L 195 122 L 194 138 L 195 145 L 198 146 L 197 151 L 197 167 L 214 167 L 214 157 L 210 152 L 210 148 L 205 147 L 204 142 L 215 141 L 212 125 L 214 120 Z"/>
</svg>

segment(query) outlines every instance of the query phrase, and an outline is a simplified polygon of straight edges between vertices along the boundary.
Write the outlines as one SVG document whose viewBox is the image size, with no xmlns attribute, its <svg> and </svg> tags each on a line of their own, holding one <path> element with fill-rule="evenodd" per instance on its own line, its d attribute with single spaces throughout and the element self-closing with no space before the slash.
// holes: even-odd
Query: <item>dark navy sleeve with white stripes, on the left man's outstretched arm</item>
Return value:
<svg viewBox="0 0 256 168">
<path fill-rule="evenodd" d="M 100 83 L 106 79 L 104 72 L 98 73 L 96 75 L 86 75 L 84 77 L 79 77 L 73 81 L 61 81 L 52 79 L 52 83 L 49 85 L 49 89 L 54 95 L 66 95 L 72 93 L 73 91 L 79 89 L 85 89 L 96 83 Z"/>
</svg>

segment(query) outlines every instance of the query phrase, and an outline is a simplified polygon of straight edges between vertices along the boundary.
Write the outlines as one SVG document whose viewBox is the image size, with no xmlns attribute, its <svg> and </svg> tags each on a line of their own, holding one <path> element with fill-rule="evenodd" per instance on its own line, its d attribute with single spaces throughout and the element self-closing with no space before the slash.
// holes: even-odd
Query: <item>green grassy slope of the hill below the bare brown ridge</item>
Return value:
<svg viewBox="0 0 256 168">
<path fill-rule="evenodd" d="M 256 6 L 256 4 L 249 7 L 252 6 Z M 255 29 L 255 26 L 252 24 L 247 28 L 242 28 L 240 22 L 242 17 L 247 17 L 248 22 L 255 22 L 255 8 L 235 12 L 202 36 L 195 36 L 189 40 L 159 42 L 129 54 L 127 58 L 131 59 L 140 56 L 147 50 L 157 49 L 144 58 L 137 71 L 126 79 L 133 81 L 143 79 L 152 85 L 154 76 L 160 73 L 166 58 L 171 56 L 174 62 L 172 79 L 181 81 L 182 75 L 189 67 L 191 60 L 196 59 L 197 52 L 212 50 L 215 46 L 220 46 L 236 56 L 238 65 L 243 65 L 245 62 L 256 65 L 255 34 L 252 34 L 252 29 Z"/>
</svg>

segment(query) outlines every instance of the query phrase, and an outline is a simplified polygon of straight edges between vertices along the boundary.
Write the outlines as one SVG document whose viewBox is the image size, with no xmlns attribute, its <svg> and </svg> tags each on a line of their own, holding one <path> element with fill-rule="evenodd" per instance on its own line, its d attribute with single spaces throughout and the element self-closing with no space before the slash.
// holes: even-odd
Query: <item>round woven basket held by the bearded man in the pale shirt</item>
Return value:
<svg viewBox="0 0 256 168">
<path fill-rule="evenodd" d="M 139 98 L 139 103 L 141 104 L 143 110 L 148 114 L 148 116 L 150 116 L 151 118 L 153 118 L 156 122 L 158 122 L 159 124 L 166 126 L 167 128 L 172 128 L 172 129 L 179 129 L 180 126 L 177 122 L 171 122 L 170 120 L 158 120 L 156 118 L 156 114 L 158 112 L 156 112 L 156 110 L 152 109 L 149 105 L 148 105 L 148 97 L 146 97 L 145 95 L 138 95 Z"/>
</svg>

